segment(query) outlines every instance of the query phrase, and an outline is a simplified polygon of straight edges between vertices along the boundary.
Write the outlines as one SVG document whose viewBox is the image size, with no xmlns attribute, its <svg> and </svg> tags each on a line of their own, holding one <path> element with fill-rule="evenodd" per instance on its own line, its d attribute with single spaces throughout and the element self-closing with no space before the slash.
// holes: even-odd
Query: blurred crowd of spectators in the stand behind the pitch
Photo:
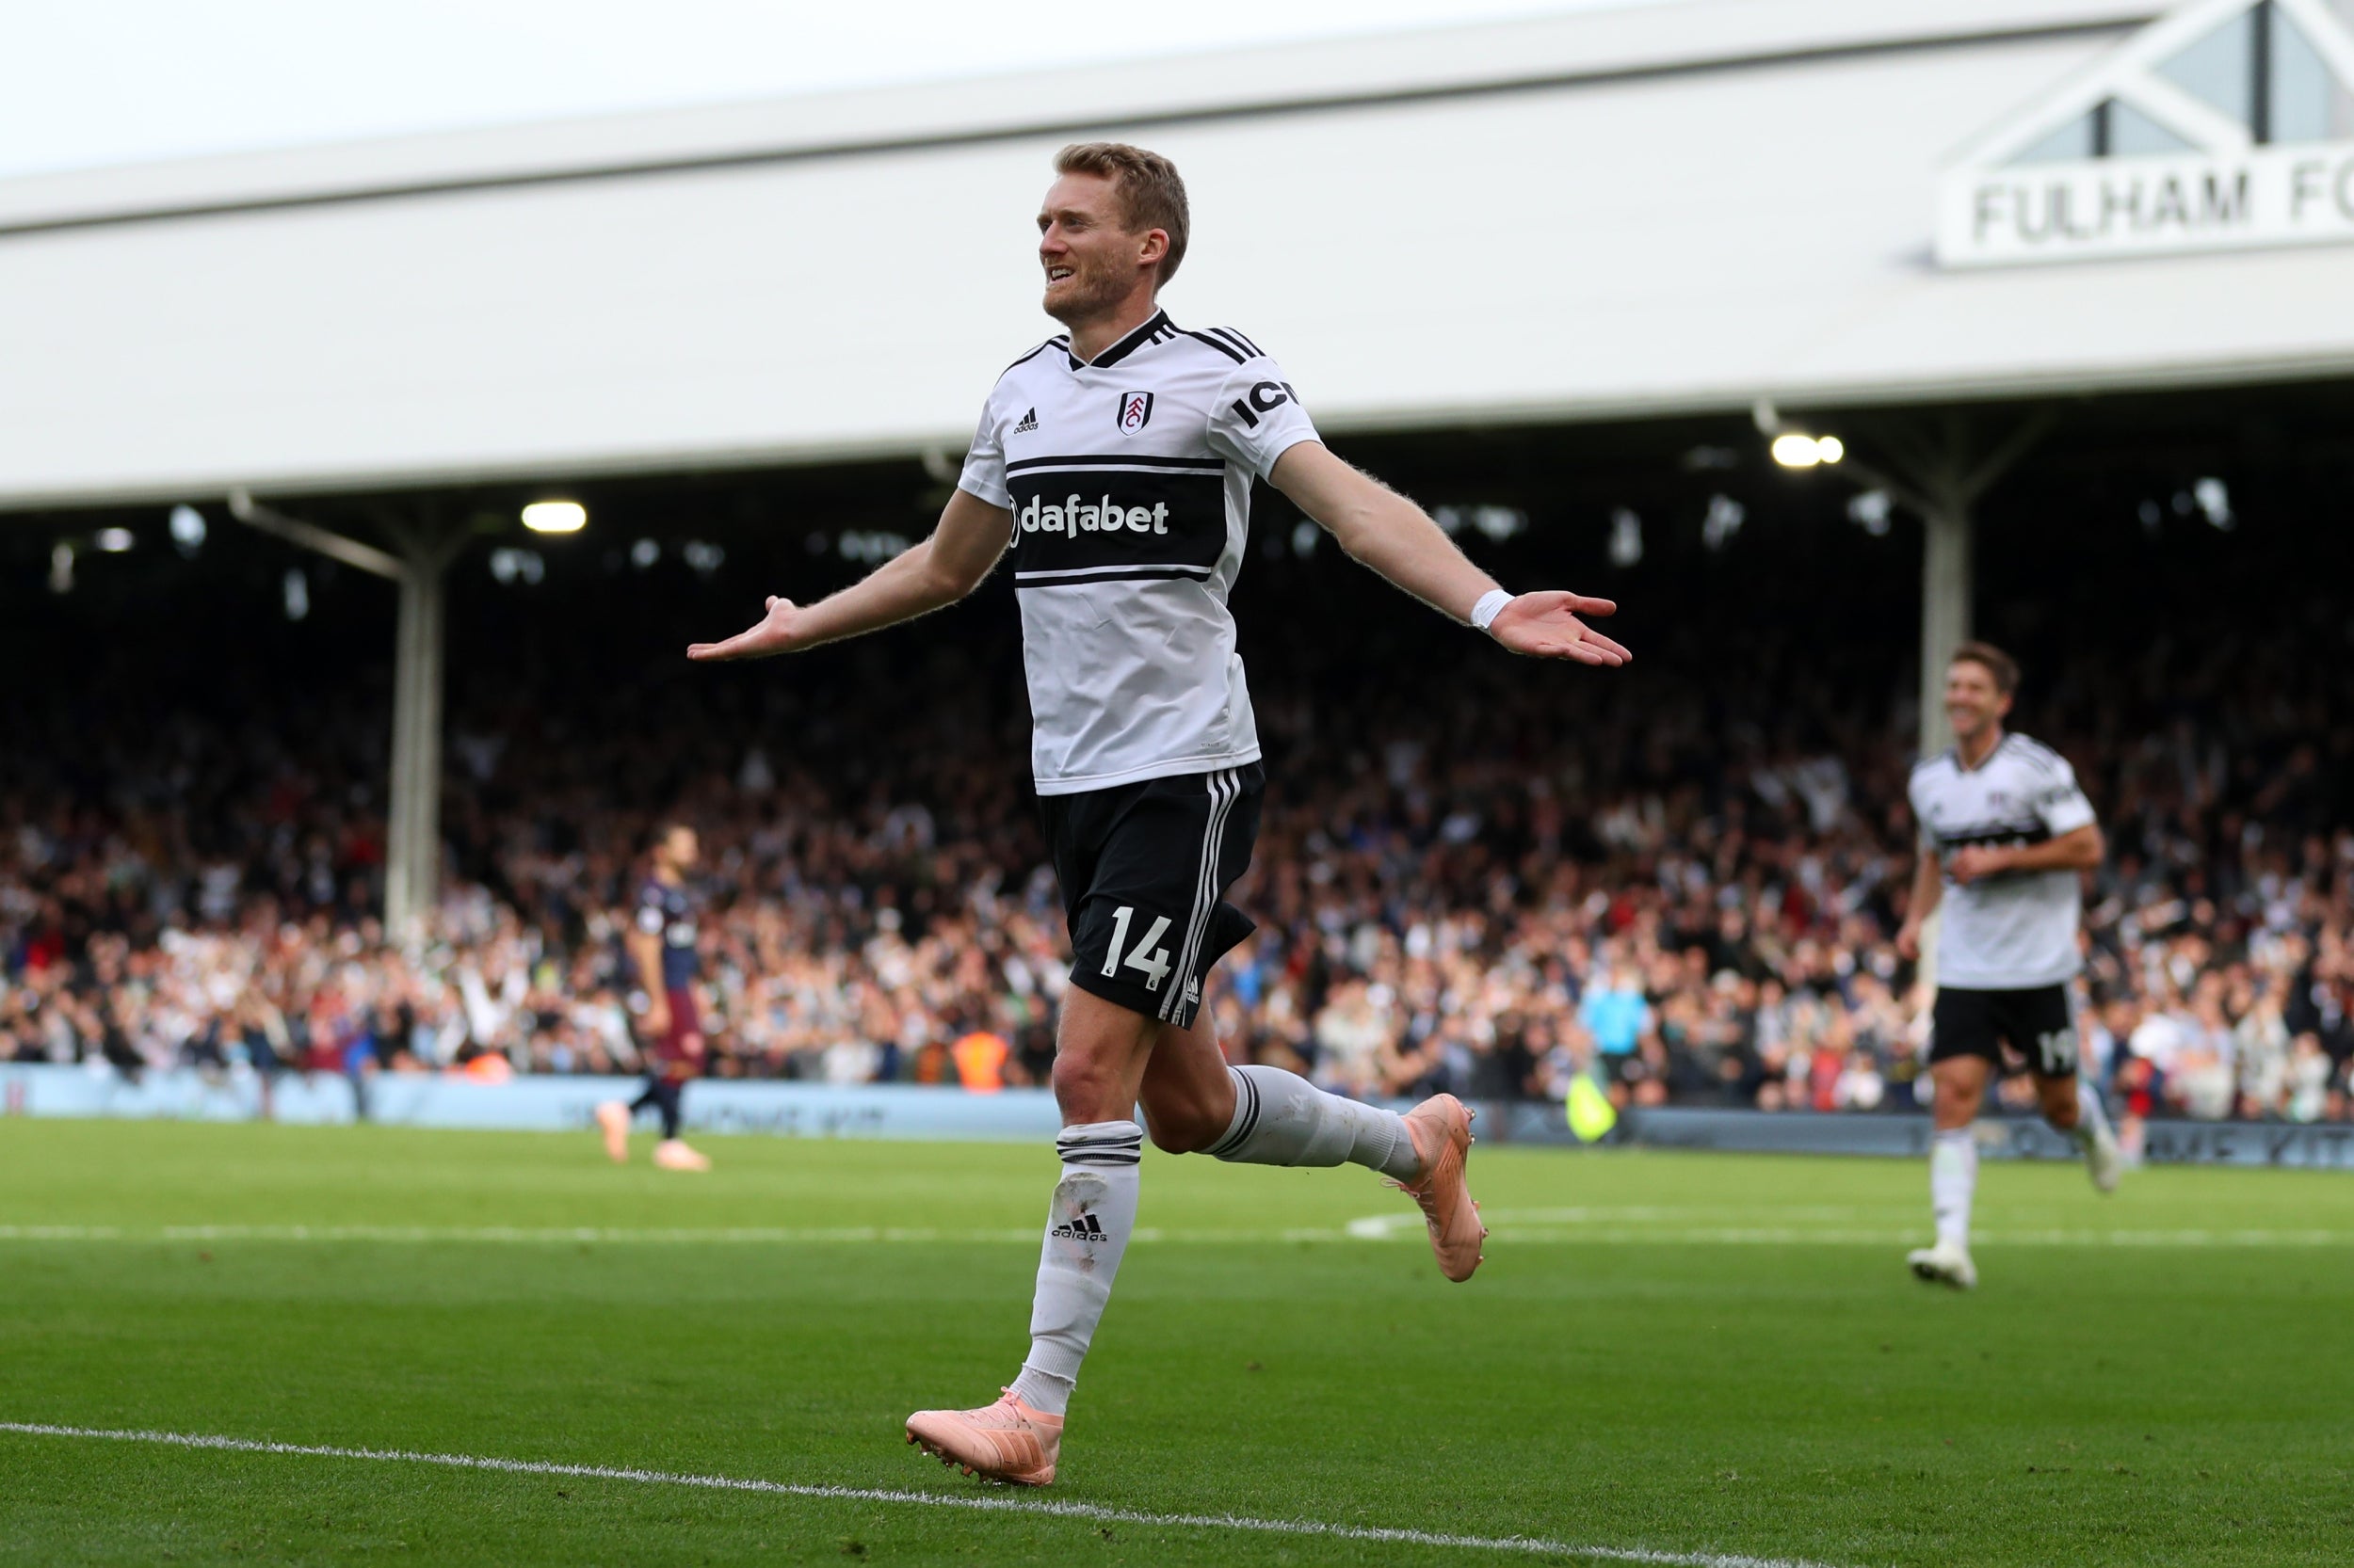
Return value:
<svg viewBox="0 0 2354 1568">
<path fill-rule="evenodd" d="M 1259 930 L 1212 982 L 1229 1052 L 1356 1095 L 1558 1099 L 1589 1071 L 1634 1104 L 1914 1104 L 1911 716 L 1883 683 L 1796 631 L 1615 683 L 1485 647 L 1365 680 L 1342 638 L 1269 636 L 1292 643 L 1252 655 L 1271 791 L 1233 892 Z M 2349 1116 L 2354 716 L 2298 647 L 2029 671 L 2020 725 L 2109 838 L 2083 1043 L 2128 1118 Z M 1017 678 L 939 640 L 887 659 L 593 706 L 461 680 L 447 892 L 410 942 L 374 918 L 381 711 L 75 711 L 0 770 L 0 1059 L 626 1069 L 619 930 L 676 815 L 704 843 L 709 1071 L 1038 1081 L 1066 949 Z M 885 730 L 878 685 L 923 699 Z"/>
</svg>

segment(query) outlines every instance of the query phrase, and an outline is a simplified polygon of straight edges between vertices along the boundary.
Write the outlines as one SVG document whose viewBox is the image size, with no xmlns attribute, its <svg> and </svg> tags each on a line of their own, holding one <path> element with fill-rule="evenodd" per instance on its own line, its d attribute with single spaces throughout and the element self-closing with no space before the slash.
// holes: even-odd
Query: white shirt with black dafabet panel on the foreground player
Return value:
<svg viewBox="0 0 2354 1568">
<path fill-rule="evenodd" d="M 1226 593 L 1250 480 L 1302 440 L 1257 344 L 1165 311 L 1092 363 L 1052 337 L 998 377 L 958 485 L 1015 513 L 1040 796 L 1259 760 Z"/>
</svg>

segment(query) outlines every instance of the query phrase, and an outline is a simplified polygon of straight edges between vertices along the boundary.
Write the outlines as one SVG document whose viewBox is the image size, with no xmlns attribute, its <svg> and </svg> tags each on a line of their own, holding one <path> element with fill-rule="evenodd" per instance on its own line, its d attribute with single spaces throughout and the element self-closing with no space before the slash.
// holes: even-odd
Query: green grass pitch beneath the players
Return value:
<svg viewBox="0 0 2354 1568">
<path fill-rule="evenodd" d="M 899 1420 L 1019 1363 L 1052 1154 L 709 1147 L 5 1121 L 0 1420 L 970 1490 Z M 1149 1158 L 1052 1495 L 1841 1568 L 2354 1556 L 2354 1177 L 1989 1165 L 1961 1297 L 1900 1262 L 1921 1165 L 1474 1175 L 1497 1236 L 1448 1285 L 1365 1172 Z M 99 1561 L 1518 1559 L 0 1434 L 0 1563 Z"/>
</svg>

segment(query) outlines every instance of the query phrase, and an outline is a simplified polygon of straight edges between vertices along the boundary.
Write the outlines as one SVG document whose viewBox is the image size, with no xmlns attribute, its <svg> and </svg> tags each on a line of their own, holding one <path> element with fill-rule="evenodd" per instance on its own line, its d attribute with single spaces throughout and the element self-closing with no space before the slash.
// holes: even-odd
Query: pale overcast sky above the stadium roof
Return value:
<svg viewBox="0 0 2354 1568">
<path fill-rule="evenodd" d="M 0 179 L 1655 2 L 0 0 Z"/>
</svg>

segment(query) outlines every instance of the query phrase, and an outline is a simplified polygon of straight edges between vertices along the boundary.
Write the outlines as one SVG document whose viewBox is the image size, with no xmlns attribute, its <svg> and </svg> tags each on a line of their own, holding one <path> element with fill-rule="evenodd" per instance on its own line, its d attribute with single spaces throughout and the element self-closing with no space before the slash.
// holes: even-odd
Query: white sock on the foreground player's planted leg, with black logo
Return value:
<svg viewBox="0 0 2354 1568">
<path fill-rule="evenodd" d="M 1062 1180 L 1045 1217 L 1038 1295 L 1031 1297 L 1031 1354 L 1015 1377 L 1015 1398 L 1045 1415 L 1071 1408 L 1078 1363 L 1111 1300 L 1111 1281 L 1137 1229 L 1137 1161 L 1144 1128 L 1090 1121 L 1055 1140 Z"/>
</svg>

